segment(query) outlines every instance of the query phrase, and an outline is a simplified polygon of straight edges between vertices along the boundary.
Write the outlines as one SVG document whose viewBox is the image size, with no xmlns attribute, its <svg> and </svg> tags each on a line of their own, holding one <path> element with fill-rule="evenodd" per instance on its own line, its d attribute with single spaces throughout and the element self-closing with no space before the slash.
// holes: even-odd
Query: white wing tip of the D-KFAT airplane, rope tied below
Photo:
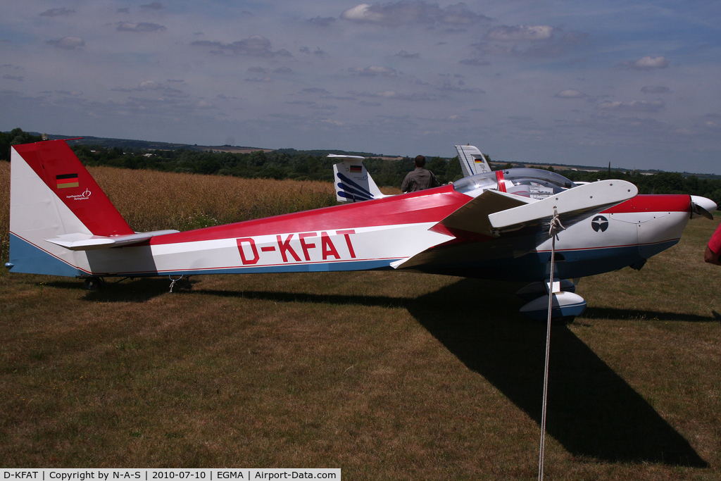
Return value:
<svg viewBox="0 0 721 481">
<path fill-rule="evenodd" d="M 525 206 L 509 208 L 488 216 L 490 224 L 501 231 L 512 231 L 523 226 L 539 224 L 554 216 L 557 211 L 564 219 L 572 219 L 590 211 L 601 211 L 633 198 L 638 189 L 625 180 L 600 180 L 579 185 L 561 193 L 551 195 L 544 200 L 528 203 Z"/>
</svg>

